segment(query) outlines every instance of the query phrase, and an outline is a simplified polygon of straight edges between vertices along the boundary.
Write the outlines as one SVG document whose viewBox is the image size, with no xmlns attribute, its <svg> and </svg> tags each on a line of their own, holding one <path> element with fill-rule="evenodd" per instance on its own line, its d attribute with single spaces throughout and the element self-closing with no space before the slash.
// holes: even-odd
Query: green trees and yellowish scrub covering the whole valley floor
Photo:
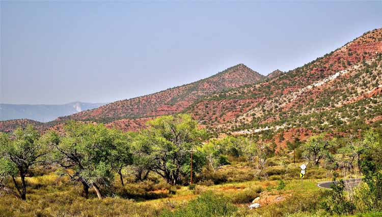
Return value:
<svg viewBox="0 0 382 217">
<path fill-rule="evenodd" d="M 0 134 L 0 216 L 382 216 L 382 128 L 280 148 L 210 138 L 187 114 L 147 124 L 124 133 L 69 121 L 62 132 Z M 351 177 L 363 181 L 345 191 Z M 331 190 L 316 186 L 331 179 Z M 261 207 L 250 209 L 255 201 Z"/>
</svg>

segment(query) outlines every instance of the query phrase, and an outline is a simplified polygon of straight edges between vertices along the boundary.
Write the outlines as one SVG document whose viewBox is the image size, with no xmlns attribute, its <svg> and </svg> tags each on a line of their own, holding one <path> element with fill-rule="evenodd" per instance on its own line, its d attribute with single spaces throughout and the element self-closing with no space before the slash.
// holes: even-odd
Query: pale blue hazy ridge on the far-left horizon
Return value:
<svg viewBox="0 0 382 217">
<path fill-rule="evenodd" d="M 98 108 L 104 103 L 72 102 L 63 105 L 0 104 L 0 120 L 32 119 L 40 122 L 52 121 L 88 109 Z"/>
</svg>

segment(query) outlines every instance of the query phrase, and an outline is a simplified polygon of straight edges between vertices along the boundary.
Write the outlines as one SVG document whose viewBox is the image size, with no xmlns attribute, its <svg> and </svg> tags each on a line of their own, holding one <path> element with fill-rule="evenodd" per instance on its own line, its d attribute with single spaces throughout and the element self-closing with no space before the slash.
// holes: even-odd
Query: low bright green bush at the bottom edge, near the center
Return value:
<svg viewBox="0 0 382 217">
<path fill-rule="evenodd" d="M 215 195 L 211 191 L 203 193 L 197 199 L 175 211 L 166 210 L 162 217 L 217 217 L 232 216 L 237 208 L 229 202 L 228 198 Z"/>
</svg>

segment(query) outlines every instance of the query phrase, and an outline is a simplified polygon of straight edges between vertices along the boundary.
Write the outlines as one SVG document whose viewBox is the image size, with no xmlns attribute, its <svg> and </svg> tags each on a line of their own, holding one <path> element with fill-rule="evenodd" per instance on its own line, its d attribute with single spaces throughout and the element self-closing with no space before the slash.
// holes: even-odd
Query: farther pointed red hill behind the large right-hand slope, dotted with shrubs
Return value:
<svg viewBox="0 0 382 217">
<path fill-rule="evenodd" d="M 97 109 L 60 117 L 63 119 L 110 122 L 123 118 L 150 117 L 183 111 L 201 97 L 247 84 L 254 84 L 264 76 L 244 66 L 231 67 L 223 72 L 194 83 L 170 88 L 155 94 L 121 100 Z"/>
</svg>

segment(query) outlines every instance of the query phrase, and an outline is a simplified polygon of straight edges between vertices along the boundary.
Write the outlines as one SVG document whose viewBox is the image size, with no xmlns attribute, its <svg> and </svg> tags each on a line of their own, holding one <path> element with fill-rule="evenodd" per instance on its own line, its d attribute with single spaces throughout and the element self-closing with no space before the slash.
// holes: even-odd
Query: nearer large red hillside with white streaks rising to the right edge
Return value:
<svg viewBox="0 0 382 217">
<path fill-rule="evenodd" d="M 382 112 L 381 53 L 379 28 L 297 69 L 204 98 L 188 111 L 212 132 L 356 129 L 380 119 L 374 116 Z"/>
</svg>

